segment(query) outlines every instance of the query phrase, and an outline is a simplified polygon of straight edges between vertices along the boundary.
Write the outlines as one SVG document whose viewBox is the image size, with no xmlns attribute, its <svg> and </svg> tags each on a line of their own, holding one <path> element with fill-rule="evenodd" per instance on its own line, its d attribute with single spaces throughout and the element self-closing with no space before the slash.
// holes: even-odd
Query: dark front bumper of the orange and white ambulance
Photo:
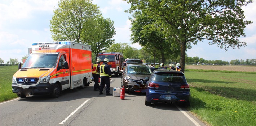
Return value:
<svg viewBox="0 0 256 126">
<path fill-rule="evenodd" d="M 48 95 L 52 93 L 53 85 L 54 84 L 43 83 L 24 89 L 16 83 L 12 83 L 12 92 L 17 94 L 22 93 L 23 95 Z"/>
</svg>

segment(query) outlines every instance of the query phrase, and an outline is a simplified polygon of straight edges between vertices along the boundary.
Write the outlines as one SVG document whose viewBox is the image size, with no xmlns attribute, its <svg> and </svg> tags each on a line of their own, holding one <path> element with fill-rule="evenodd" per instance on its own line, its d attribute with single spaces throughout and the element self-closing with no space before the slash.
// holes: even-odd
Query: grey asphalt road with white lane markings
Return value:
<svg viewBox="0 0 256 126">
<path fill-rule="evenodd" d="M 120 87 L 120 76 L 110 82 Z M 67 89 L 58 98 L 30 96 L 0 103 L 0 126 L 205 126 L 185 108 L 145 106 L 145 94 L 126 93 L 125 99 L 84 89 Z"/>
</svg>

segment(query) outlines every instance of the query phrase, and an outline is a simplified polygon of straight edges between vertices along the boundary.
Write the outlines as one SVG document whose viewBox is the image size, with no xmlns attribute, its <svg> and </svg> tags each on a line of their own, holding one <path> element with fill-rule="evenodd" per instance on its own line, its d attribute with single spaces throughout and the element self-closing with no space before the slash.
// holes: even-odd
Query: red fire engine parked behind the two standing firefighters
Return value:
<svg viewBox="0 0 256 126">
<path fill-rule="evenodd" d="M 103 63 L 103 60 L 105 58 L 109 59 L 109 62 L 107 64 L 109 64 L 110 69 L 111 69 L 111 73 L 115 74 L 116 77 L 118 77 L 118 75 L 121 75 L 120 70 L 123 69 L 123 61 L 124 61 L 124 57 L 122 53 L 119 52 L 109 52 L 109 53 L 99 53 L 98 57 L 101 59 L 101 64 Z"/>
</svg>

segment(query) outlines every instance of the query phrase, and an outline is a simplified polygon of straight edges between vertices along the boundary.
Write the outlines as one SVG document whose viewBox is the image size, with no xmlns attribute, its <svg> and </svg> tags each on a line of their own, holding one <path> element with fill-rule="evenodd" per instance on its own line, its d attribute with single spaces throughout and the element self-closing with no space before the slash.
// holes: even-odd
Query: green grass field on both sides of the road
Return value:
<svg viewBox="0 0 256 126">
<path fill-rule="evenodd" d="M 16 98 L 12 76 L 18 66 L 0 66 L 0 102 Z M 256 126 L 256 72 L 186 69 L 191 89 L 187 109 L 211 126 Z"/>
</svg>

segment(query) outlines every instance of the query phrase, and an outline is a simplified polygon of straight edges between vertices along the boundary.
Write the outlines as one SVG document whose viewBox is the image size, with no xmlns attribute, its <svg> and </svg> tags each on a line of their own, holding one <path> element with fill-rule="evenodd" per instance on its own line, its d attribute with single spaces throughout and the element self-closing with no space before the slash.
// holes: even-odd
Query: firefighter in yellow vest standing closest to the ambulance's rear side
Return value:
<svg viewBox="0 0 256 126">
<path fill-rule="evenodd" d="M 93 64 L 93 68 L 92 68 L 92 75 L 94 78 L 94 88 L 93 88 L 94 91 L 100 90 L 100 85 L 99 85 L 100 63 L 101 63 L 101 60 L 97 59 L 96 64 Z"/>
</svg>

